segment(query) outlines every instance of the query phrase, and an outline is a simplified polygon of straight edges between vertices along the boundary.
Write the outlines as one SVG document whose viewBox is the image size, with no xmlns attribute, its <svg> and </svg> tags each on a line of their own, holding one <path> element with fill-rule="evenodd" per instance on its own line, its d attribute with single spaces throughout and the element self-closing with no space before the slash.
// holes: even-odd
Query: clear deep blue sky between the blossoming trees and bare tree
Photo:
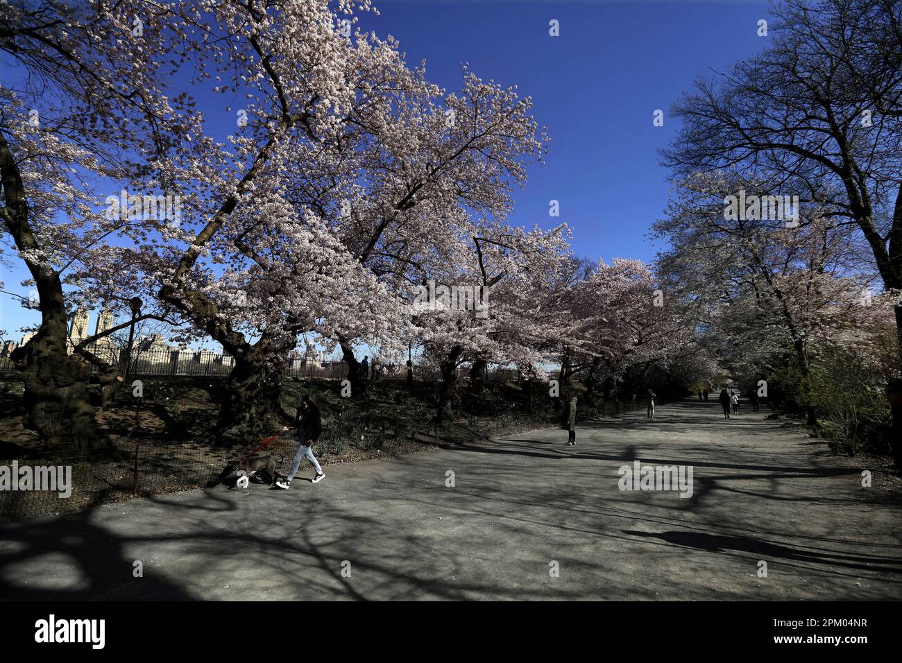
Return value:
<svg viewBox="0 0 902 663">
<path fill-rule="evenodd" d="M 480 78 L 517 85 L 520 95 L 532 97 L 551 143 L 546 163 L 530 168 L 526 189 L 516 191 L 510 221 L 566 222 L 576 253 L 607 262 L 654 257 L 646 234 L 667 206 L 667 170 L 657 151 L 678 129 L 670 106 L 697 76 L 764 48 L 768 38 L 757 35 L 757 23 L 770 18 L 763 0 L 382 0 L 377 6 L 381 15 L 365 17 L 362 27 L 398 39 L 411 66 L 425 59 L 437 85 L 459 87 L 460 63 L 468 62 Z M 548 34 L 552 19 L 558 37 Z M 665 112 L 664 126 L 652 124 L 656 109 Z M 548 216 L 551 199 L 560 203 L 558 218 Z M 0 270 L 5 290 L 27 295 L 18 285 L 27 272 Z M 2 297 L 0 329 L 18 341 L 16 330 L 40 317 Z"/>
</svg>

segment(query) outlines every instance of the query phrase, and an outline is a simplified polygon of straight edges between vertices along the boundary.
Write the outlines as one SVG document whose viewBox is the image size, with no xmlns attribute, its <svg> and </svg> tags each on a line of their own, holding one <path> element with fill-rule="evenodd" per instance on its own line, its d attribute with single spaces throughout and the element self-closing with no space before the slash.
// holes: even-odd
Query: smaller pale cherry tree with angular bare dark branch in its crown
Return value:
<svg viewBox="0 0 902 663">
<path fill-rule="evenodd" d="M 561 311 L 549 306 L 569 256 L 566 226 L 546 232 L 494 222 L 474 228 L 469 260 L 429 272 L 429 282 L 450 293 L 432 295 L 428 309 L 414 304 L 414 339 L 437 364 L 441 378 L 439 423 L 454 419 L 456 371 L 471 365 L 474 390 L 481 391 L 486 364 L 515 364 L 521 373 L 545 377 L 542 366 L 560 331 Z M 420 292 L 425 290 L 420 284 Z M 453 290 L 452 290 L 453 289 Z M 460 305 L 472 291 L 472 308 Z M 457 293 L 455 295 L 455 293 Z"/>
</svg>

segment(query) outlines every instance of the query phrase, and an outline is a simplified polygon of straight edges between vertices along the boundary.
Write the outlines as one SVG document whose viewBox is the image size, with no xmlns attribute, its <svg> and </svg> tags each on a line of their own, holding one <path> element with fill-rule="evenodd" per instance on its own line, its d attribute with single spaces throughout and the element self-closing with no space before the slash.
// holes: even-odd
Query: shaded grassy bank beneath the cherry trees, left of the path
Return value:
<svg viewBox="0 0 902 663">
<path fill-rule="evenodd" d="M 0 463 L 12 460 L 32 465 L 70 465 L 73 492 L 69 499 L 55 493 L 0 494 L 0 520 L 27 520 L 64 511 L 77 511 L 107 502 L 132 499 L 134 494 L 172 493 L 202 487 L 229 461 L 250 454 L 261 440 L 238 447 L 214 446 L 218 405 L 217 383 L 208 380 L 145 380 L 143 397 L 118 394 L 112 407 L 97 417 L 113 440 L 117 453 L 87 462 L 74 449 L 49 449 L 22 426 L 22 383 L 3 382 L 0 392 Z M 360 399 L 342 398 L 336 382 L 288 381 L 281 405 L 293 411 L 301 393 L 309 393 L 324 414 L 324 433 L 315 447 L 323 465 L 354 463 L 372 458 L 403 456 L 425 448 L 465 444 L 476 438 L 537 427 L 537 419 L 518 419 L 517 403 L 505 400 L 496 385 L 488 395 L 494 412 L 480 417 L 463 415 L 454 424 L 436 428 L 429 421 L 435 391 L 428 384 L 380 382 Z M 515 390 L 519 391 L 519 390 Z M 510 394 L 508 394 L 510 396 Z M 518 398 L 516 394 L 513 397 Z M 273 434 L 281 433 L 274 430 Z M 277 472 L 288 471 L 297 446 L 281 434 L 262 449 L 276 460 Z M 138 477 L 135 483 L 134 458 Z"/>
</svg>

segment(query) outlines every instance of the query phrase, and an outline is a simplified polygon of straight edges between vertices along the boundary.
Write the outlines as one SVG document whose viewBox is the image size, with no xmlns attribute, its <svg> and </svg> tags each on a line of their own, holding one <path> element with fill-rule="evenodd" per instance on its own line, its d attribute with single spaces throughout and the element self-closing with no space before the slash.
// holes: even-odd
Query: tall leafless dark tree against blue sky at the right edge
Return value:
<svg viewBox="0 0 902 663">
<path fill-rule="evenodd" d="M 768 49 L 700 79 L 664 163 L 676 178 L 736 170 L 858 226 L 902 348 L 902 30 L 898 0 L 787 0 Z M 889 382 L 902 467 L 902 381 Z"/>
</svg>

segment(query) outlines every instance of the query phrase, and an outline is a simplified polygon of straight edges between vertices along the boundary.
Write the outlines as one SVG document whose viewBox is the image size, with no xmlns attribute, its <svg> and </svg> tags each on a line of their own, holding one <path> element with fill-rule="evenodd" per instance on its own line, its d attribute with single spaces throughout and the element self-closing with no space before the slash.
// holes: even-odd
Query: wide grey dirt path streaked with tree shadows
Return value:
<svg viewBox="0 0 902 663">
<path fill-rule="evenodd" d="M 686 401 L 584 424 L 576 447 L 542 430 L 338 465 L 318 484 L 302 468 L 290 491 L 220 486 L 6 527 L 0 597 L 902 599 L 898 494 L 879 476 L 862 488 L 866 468 L 796 426 L 718 410 Z M 691 497 L 621 491 L 637 460 L 692 466 Z"/>
</svg>

